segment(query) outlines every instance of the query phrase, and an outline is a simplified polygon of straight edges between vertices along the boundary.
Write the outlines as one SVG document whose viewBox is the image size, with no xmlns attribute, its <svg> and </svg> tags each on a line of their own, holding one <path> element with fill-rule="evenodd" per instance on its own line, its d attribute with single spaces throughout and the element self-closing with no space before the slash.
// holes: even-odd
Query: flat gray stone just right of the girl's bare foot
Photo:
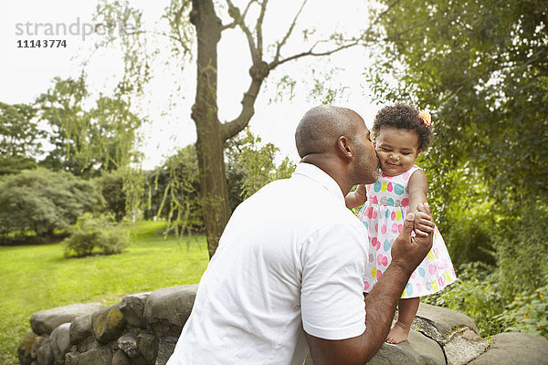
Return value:
<svg viewBox="0 0 548 365">
<path fill-rule="evenodd" d="M 432 324 L 432 326 L 434 326 L 434 328 L 436 328 L 437 332 L 441 334 L 441 336 L 445 336 L 455 329 L 464 327 L 468 327 L 479 334 L 479 329 L 472 318 L 469 318 L 468 316 L 453 309 L 420 303 L 415 319 L 417 322 L 420 322 L 421 319 L 426 319 Z M 420 328 L 426 329 L 425 327 L 426 326 L 421 326 Z"/>
</svg>

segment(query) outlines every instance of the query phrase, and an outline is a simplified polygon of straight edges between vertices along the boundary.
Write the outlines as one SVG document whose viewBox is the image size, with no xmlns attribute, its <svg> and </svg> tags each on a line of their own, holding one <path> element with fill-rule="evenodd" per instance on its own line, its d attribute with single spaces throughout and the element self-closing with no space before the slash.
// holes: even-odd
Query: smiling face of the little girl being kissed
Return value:
<svg viewBox="0 0 548 365">
<path fill-rule="evenodd" d="M 414 130 L 384 127 L 374 140 L 381 170 L 396 176 L 409 170 L 418 156 L 418 134 Z"/>
</svg>

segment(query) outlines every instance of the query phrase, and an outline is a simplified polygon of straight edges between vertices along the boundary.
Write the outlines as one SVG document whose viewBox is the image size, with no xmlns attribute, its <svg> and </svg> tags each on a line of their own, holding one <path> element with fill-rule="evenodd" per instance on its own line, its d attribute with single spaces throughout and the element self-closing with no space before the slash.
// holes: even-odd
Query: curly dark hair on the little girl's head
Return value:
<svg viewBox="0 0 548 365">
<path fill-rule="evenodd" d="M 426 125 L 418 116 L 416 108 L 405 103 L 395 103 L 387 106 L 374 117 L 373 133 L 377 136 L 384 127 L 397 128 L 398 130 L 415 130 L 418 135 L 418 150 L 426 151 L 432 140 L 432 124 Z"/>
</svg>

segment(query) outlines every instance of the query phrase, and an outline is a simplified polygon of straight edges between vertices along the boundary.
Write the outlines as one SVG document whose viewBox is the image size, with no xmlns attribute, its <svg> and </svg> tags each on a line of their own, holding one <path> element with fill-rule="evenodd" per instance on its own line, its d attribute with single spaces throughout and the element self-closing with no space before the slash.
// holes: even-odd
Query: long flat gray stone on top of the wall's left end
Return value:
<svg viewBox="0 0 548 365">
<path fill-rule="evenodd" d="M 79 303 L 66 307 L 40 310 L 30 318 L 30 327 L 38 335 L 49 335 L 63 323 L 72 322 L 75 318 L 103 308 L 100 303 Z"/>
</svg>

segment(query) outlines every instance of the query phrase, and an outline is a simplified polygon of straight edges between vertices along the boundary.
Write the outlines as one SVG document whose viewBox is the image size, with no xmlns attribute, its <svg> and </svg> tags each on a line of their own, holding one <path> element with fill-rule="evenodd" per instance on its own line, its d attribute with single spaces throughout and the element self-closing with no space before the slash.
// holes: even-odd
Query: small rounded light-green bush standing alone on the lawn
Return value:
<svg viewBox="0 0 548 365">
<path fill-rule="evenodd" d="M 76 224 L 68 228 L 70 235 L 65 239 L 65 256 L 120 254 L 130 244 L 129 235 L 120 225 L 112 223 L 109 215 L 81 215 Z"/>
</svg>

